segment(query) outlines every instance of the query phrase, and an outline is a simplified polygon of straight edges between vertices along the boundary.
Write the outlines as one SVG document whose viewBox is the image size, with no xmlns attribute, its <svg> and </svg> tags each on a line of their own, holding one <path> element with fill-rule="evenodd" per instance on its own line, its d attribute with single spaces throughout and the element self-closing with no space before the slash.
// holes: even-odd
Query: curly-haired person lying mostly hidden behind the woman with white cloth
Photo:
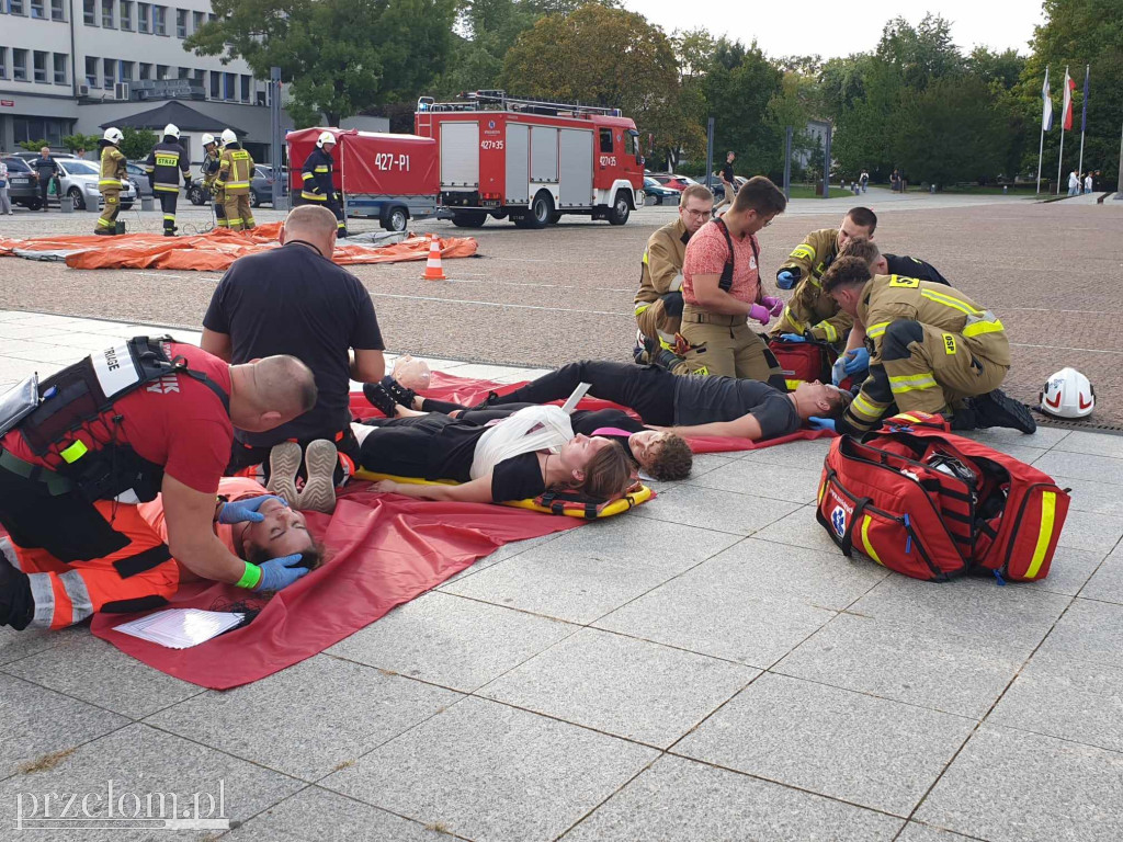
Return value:
<svg viewBox="0 0 1123 842">
<path fill-rule="evenodd" d="M 424 411 L 398 406 L 398 418 L 419 418 L 429 412 L 442 412 L 473 424 L 487 424 L 510 418 L 519 410 L 533 406 L 532 403 L 509 403 L 474 410 L 458 403 L 424 400 Z M 618 441 L 637 468 L 642 468 L 652 479 L 675 482 L 690 476 L 694 455 L 690 445 L 678 434 L 669 431 L 651 430 L 623 410 L 576 410 L 569 413 L 573 431 L 583 436 L 603 436 Z"/>
</svg>

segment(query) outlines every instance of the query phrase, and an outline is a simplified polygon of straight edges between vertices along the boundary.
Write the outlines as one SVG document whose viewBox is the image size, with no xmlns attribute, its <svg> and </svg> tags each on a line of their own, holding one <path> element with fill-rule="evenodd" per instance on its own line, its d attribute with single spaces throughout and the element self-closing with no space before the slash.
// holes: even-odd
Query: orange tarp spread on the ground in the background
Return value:
<svg viewBox="0 0 1123 842">
<path fill-rule="evenodd" d="M 214 229 L 208 234 L 164 237 L 157 234 L 125 234 L 117 237 L 71 236 L 8 239 L 0 237 L 0 257 L 18 257 L 18 251 L 60 253 L 75 269 L 200 269 L 222 272 L 239 257 L 276 248 L 280 222 L 257 226 L 252 231 Z M 436 237 L 442 258 L 471 257 L 476 253 L 472 237 Z M 30 255 L 34 256 L 34 255 Z M 391 246 L 362 246 L 340 240 L 332 259 L 343 266 L 360 263 L 424 260 L 428 236 L 413 236 Z"/>
</svg>

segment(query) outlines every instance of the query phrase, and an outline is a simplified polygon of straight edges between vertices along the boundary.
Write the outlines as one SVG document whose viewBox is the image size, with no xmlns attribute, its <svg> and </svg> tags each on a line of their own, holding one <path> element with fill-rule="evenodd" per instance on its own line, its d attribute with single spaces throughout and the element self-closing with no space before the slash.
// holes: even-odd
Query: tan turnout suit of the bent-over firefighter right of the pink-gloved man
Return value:
<svg viewBox="0 0 1123 842">
<path fill-rule="evenodd" d="M 820 228 L 792 249 L 777 271 L 791 272 L 798 278 L 792 300 L 784 308 L 784 315 L 773 328 L 773 335 L 807 333 L 815 339 L 837 344 L 853 324 L 847 313 L 839 310 L 830 295 L 823 292 L 822 277 L 838 256 L 838 229 Z"/>
</svg>

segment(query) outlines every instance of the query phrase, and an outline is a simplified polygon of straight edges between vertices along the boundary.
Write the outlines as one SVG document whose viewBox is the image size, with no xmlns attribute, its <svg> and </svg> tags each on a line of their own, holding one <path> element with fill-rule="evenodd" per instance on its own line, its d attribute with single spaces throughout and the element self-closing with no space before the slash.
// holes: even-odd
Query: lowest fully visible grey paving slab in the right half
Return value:
<svg viewBox="0 0 1123 842">
<path fill-rule="evenodd" d="M 976 723 L 764 675 L 673 751 L 907 816 Z"/>
</svg>

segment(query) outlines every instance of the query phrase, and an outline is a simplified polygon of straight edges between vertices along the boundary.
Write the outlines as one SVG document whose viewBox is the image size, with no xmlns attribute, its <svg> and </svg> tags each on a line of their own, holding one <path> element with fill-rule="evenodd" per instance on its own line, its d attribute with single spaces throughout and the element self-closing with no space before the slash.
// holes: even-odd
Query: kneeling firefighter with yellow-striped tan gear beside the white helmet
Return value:
<svg viewBox="0 0 1123 842">
<path fill-rule="evenodd" d="M 943 414 L 961 430 L 1037 429 L 1029 410 L 998 390 L 1010 370 L 1002 321 L 960 291 L 913 277 L 871 276 L 857 257 L 831 264 L 823 291 L 865 327 L 870 357 L 860 394 L 839 421 L 825 419 L 820 427 L 860 434 L 896 403 L 898 412 Z"/>
</svg>

